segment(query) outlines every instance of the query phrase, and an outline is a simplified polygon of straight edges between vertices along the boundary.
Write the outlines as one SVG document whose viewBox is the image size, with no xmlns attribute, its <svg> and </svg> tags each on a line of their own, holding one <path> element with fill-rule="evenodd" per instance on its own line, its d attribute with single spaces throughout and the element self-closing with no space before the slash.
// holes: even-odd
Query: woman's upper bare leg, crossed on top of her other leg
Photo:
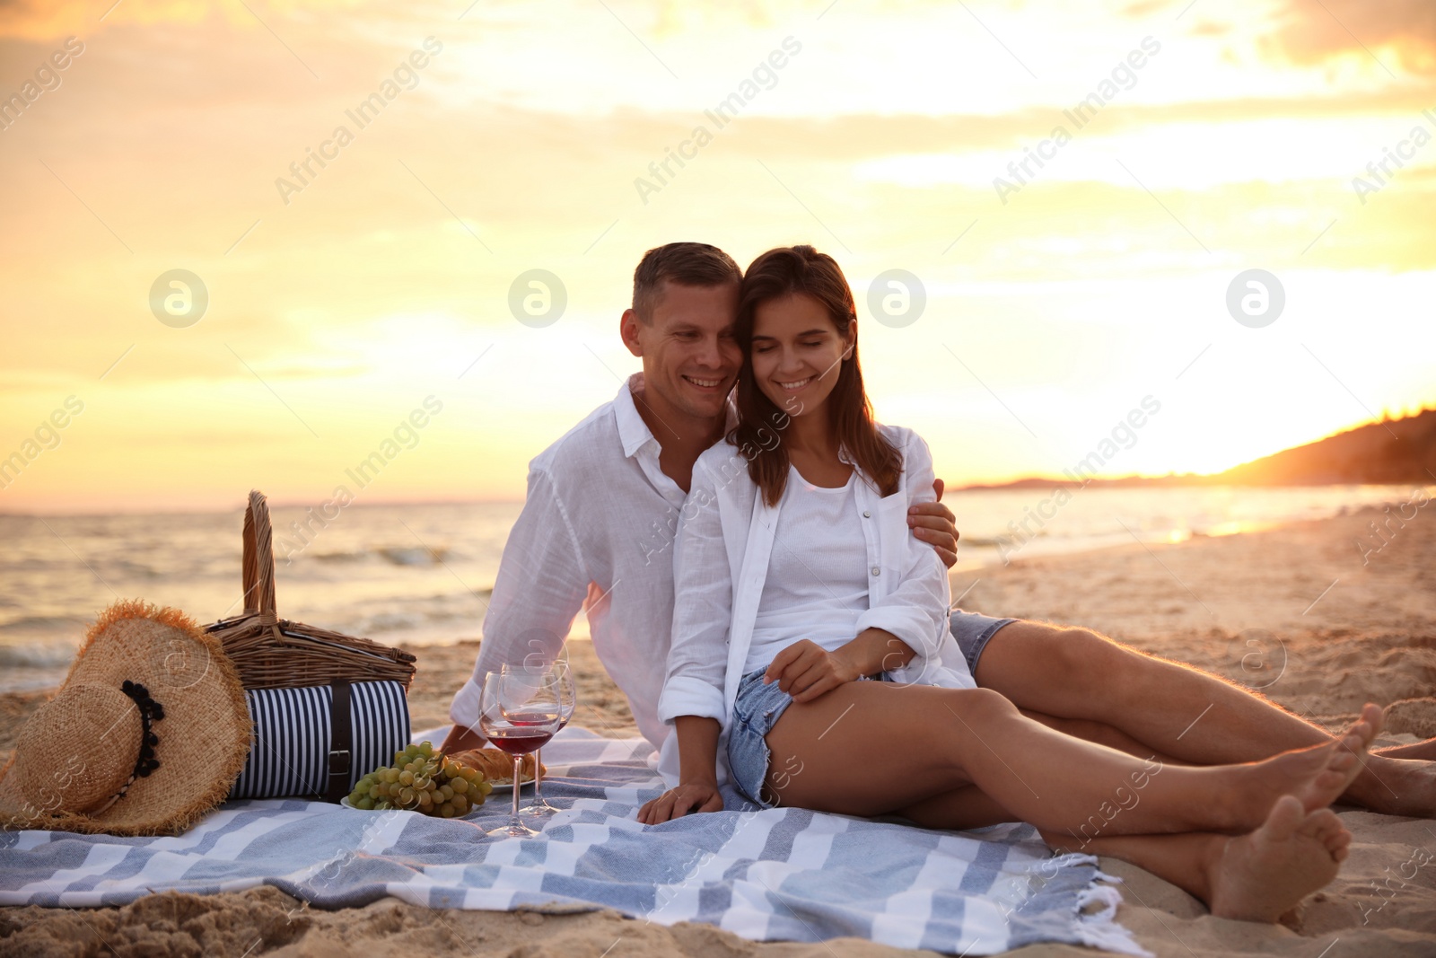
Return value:
<svg viewBox="0 0 1436 958">
<path fill-rule="evenodd" d="M 778 770 L 768 789 L 783 804 L 875 816 L 922 810 L 975 784 L 1011 817 L 1078 837 L 1241 833 L 1282 794 L 1307 810 L 1330 804 L 1379 724 L 1371 707 L 1341 743 L 1246 766 L 1172 768 L 1055 733 L 987 689 L 849 682 L 783 712 L 767 735 Z"/>
</svg>

